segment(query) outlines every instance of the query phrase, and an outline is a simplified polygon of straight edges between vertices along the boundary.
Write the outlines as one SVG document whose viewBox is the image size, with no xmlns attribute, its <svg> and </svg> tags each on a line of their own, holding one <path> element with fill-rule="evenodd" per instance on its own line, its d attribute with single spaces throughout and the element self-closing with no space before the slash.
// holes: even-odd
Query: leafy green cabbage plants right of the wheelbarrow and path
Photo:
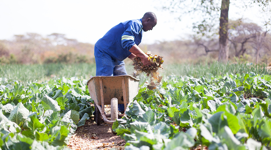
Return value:
<svg viewBox="0 0 271 150">
<path fill-rule="evenodd" d="M 153 91 L 142 85 L 127 116 L 113 124 L 125 149 L 270 149 L 269 75 L 164 80 Z"/>
</svg>

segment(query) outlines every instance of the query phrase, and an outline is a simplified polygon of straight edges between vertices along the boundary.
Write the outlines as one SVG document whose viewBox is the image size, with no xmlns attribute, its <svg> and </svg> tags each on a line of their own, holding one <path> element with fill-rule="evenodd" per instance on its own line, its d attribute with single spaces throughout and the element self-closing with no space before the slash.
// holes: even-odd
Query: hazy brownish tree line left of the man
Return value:
<svg viewBox="0 0 271 150">
<path fill-rule="evenodd" d="M 94 62 L 94 45 L 68 39 L 53 33 L 45 37 L 36 33 L 14 35 L 0 40 L 0 64 L 79 63 Z"/>
</svg>

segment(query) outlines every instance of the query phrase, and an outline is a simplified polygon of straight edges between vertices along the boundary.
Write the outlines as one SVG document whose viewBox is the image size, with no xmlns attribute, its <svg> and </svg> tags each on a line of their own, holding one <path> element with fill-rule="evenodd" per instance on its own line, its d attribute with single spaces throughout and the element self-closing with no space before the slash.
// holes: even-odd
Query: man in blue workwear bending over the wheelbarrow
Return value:
<svg viewBox="0 0 271 150">
<path fill-rule="evenodd" d="M 125 58 L 140 57 L 143 65 L 151 66 L 146 55 L 138 45 L 143 32 L 152 30 L 157 23 L 154 13 L 147 12 L 142 19 L 121 22 L 111 28 L 94 47 L 96 62 L 96 76 L 126 75 Z M 118 109 L 124 113 L 124 105 L 119 104 Z"/>
</svg>

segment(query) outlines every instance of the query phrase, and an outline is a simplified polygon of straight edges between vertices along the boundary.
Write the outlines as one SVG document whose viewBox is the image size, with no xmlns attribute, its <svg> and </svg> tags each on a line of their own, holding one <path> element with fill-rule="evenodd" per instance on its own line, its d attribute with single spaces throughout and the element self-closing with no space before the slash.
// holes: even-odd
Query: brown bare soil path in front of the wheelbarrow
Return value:
<svg viewBox="0 0 271 150">
<path fill-rule="evenodd" d="M 110 107 L 105 108 L 105 113 Z M 73 150 L 124 150 L 125 140 L 112 134 L 111 125 L 101 122 L 97 125 L 94 116 L 86 120 L 85 125 L 78 127 L 70 138 L 68 148 Z M 101 119 L 101 121 L 103 121 Z"/>
</svg>

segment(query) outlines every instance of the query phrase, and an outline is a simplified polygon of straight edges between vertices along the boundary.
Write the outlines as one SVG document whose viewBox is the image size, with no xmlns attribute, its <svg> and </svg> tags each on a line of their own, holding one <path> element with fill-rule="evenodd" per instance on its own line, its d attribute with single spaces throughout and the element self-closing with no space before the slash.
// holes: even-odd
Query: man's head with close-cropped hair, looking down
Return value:
<svg viewBox="0 0 271 150">
<path fill-rule="evenodd" d="M 152 30 L 152 28 L 156 25 L 157 18 L 154 13 L 147 12 L 142 17 L 142 25 L 143 25 L 143 31 L 149 31 Z"/>
</svg>

